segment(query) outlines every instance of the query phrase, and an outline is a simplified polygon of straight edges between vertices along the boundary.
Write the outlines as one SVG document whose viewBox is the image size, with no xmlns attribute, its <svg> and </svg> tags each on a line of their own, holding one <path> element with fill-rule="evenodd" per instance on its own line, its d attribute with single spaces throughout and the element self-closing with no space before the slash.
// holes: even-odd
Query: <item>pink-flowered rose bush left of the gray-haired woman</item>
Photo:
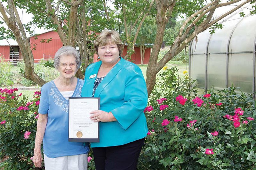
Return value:
<svg viewBox="0 0 256 170">
<path fill-rule="evenodd" d="M 34 154 L 40 92 L 28 101 L 22 94 L 16 95 L 17 90 L 0 89 L 0 158 L 8 158 L 1 165 L 7 170 L 33 167 L 30 158 Z"/>
</svg>

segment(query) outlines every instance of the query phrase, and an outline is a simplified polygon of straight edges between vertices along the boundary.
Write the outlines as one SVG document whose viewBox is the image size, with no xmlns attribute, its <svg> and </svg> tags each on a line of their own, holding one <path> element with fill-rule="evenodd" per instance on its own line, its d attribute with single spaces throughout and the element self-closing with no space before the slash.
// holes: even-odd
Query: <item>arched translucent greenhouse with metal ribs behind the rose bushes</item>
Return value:
<svg viewBox="0 0 256 170">
<path fill-rule="evenodd" d="M 229 86 L 255 92 L 256 15 L 244 8 L 219 24 L 222 29 L 198 34 L 190 43 L 189 74 L 199 88 L 222 90 Z"/>
</svg>

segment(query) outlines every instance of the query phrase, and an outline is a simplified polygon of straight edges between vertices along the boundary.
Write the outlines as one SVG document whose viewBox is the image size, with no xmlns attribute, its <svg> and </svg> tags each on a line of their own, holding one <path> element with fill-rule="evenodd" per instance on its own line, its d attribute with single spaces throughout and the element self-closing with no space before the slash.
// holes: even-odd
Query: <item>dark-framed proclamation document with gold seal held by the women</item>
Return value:
<svg viewBox="0 0 256 170">
<path fill-rule="evenodd" d="M 68 141 L 100 142 L 99 122 L 90 119 L 90 112 L 100 110 L 100 98 L 70 97 L 68 100 Z"/>
</svg>

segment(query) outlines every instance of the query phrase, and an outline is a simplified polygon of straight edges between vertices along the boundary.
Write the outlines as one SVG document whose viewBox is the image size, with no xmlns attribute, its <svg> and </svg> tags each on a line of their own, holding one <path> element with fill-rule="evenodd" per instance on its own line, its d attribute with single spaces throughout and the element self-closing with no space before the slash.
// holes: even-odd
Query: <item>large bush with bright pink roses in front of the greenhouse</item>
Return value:
<svg viewBox="0 0 256 170">
<path fill-rule="evenodd" d="M 187 75 L 161 75 L 145 115 L 139 169 L 255 169 L 255 100 L 235 87 L 196 94 Z M 169 75 L 169 76 L 168 76 Z"/>
</svg>

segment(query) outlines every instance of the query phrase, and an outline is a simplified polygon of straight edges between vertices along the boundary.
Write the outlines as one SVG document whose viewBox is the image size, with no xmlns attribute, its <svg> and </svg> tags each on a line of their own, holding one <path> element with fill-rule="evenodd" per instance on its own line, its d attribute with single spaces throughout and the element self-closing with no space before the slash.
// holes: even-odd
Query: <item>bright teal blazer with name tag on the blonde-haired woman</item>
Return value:
<svg viewBox="0 0 256 170">
<path fill-rule="evenodd" d="M 82 97 L 92 97 L 96 77 L 90 76 L 98 74 L 101 63 L 87 67 Z M 143 111 L 148 103 L 148 92 L 137 65 L 121 58 L 101 81 L 94 97 L 100 97 L 100 110 L 111 111 L 117 121 L 100 122 L 100 142 L 91 143 L 91 147 L 123 145 L 146 137 L 148 128 Z"/>
</svg>

